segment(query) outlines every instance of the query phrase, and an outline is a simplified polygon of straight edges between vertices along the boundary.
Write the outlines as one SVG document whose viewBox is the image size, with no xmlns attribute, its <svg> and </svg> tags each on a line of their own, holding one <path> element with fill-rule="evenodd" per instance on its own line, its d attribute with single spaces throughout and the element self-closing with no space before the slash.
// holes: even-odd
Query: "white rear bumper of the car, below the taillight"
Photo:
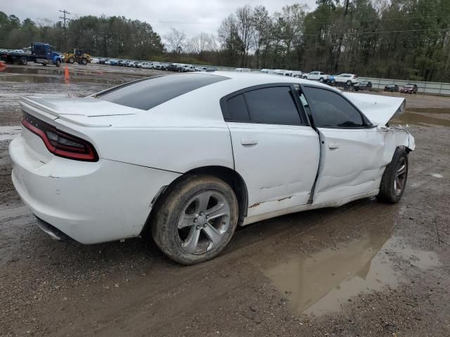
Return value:
<svg viewBox="0 0 450 337">
<path fill-rule="evenodd" d="M 13 184 L 32 213 L 82 244 L 138 236 L 155 194 L 179 176 L 107 159 L 89 163 L 53 156 L 44 164 L 22 136 L 9 152 Z"/>
</svg>

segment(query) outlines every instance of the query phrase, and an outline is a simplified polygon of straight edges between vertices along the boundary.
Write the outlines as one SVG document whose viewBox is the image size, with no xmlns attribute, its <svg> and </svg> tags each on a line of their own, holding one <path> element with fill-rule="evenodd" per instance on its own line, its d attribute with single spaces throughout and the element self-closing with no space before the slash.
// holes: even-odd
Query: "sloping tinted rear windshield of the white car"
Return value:
<svg viewBox="0 0 450 337">
<path fill-rule="evenodd" d="M 152 77 L 117 86 L 95 97 L 111 103 L 150 110 L 157 105 L 203 86 L 224 81 L 229 77 L 212 74 L 180 74 Z"/>
</svg>

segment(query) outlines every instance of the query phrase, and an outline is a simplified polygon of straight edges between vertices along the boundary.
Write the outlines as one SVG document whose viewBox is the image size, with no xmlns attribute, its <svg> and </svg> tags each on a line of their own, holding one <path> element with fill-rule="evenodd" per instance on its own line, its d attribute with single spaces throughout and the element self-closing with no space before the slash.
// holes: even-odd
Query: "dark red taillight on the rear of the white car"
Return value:
<svg viewBox="0 0 450 337">
<path fill-rule="evenodd" d="M 94 146 L 82 138 L 60 131 L 56 127 L 32 117 L 30 114 L 23 114 L 22 125 L 39 136 L 44 141 L 47 150 L 58 157 L 82 161 L 98 161 L 98 154 Z"/>
</svg>

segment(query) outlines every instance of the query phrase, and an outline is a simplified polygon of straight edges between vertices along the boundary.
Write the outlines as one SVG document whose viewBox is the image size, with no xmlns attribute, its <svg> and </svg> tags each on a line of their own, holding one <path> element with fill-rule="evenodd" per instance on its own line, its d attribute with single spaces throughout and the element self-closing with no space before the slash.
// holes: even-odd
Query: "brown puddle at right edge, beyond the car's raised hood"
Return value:
<svg viewBox="0 0 450 337">
<path fill-rule="evenodd" d="M 408 109 L 401 117 L 392 119 L 392 122 L 413 125 L 450 126 L 450 109 Z"/>
</svg>

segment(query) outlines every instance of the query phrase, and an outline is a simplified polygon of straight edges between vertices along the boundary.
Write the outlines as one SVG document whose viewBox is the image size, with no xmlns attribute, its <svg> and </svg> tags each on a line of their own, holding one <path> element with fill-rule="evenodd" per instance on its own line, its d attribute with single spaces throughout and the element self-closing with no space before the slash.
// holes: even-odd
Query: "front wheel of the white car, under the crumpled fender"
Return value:
<svg viewBox="0 0 450 337">
<path fill-rule="evenodd" d="M 399 174 L 402 166 L 404 166 L 404 172 Z M 377 199 L 391 204 L 400 201 L 406 187 L 407 178 L 408 154 L 404 147 L 397 147 L 392 161 L 386 166 L 383 177 L 381 178 L 380 192 L 377 195 Z M 399 184 L 399 181 L 401 181 L 401 184 Z"/>
</svg>

